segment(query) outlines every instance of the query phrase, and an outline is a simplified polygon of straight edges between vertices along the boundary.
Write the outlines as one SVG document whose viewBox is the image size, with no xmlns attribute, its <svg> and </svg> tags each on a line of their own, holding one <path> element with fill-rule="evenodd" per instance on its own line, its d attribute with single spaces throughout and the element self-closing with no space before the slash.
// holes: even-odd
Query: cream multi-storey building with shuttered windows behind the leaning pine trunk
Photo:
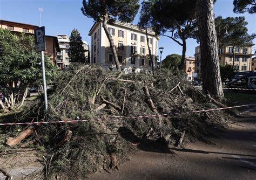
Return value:
<svg viewBox="0 0 256 180">
<path fill-rule="evenodd" d="M 122 71 L 126 73 L 139 72 L 140 70 L 151 72 L 151 60 L 145 30 L 139 29 L 136 25 L 120 22 L 108 24 L 107 27 L 116 46 Z M 91 27 L 89 36 L 91 36 L 91 63 L 114 70 L 116 66 L 102 22 L 96 22 Z M 154 34 L 152 29 L 148 30 L 148 37 L 153 63 L 156 65 L 159 37 Z"/>
</svg>

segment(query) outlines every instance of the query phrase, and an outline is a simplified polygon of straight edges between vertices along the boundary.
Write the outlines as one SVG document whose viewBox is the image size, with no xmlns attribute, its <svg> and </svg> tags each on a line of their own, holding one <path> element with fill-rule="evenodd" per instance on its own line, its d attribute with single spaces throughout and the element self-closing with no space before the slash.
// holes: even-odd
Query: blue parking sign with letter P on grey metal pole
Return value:
<svg viewBox="0 0 256 180">
<path fill-rule="evenodd" d="M 45 103 L 45 111 L 48 109 L 48 101 L 47 101 L 47 89 L 46 89 L 46 80 L 45 80 L 45 69 L 44 69 L 44 51 L 45 51 L 45 30 L 44 26 L 38 27 L 35 29 L 35 45 L 36 52 L 41 51 L 41 64 L 43 70 L 43 87 L 44 87 L 44 103 Z"/>
</svg>

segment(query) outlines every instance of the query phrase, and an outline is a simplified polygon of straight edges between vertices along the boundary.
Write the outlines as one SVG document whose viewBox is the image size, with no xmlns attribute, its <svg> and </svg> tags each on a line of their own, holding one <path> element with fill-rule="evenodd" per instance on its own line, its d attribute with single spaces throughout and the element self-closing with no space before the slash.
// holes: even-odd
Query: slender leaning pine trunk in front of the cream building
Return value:
<svg viewBox="0 0 256 180">
<path fill-rule="evenodd" d="M 109 43 L 110 43 L 110 48 L 112 50 L 112 53 L 113 53 L 113 57 L 114 57 L 114 64 L 116 64 L 116 68 L 117 68 L 117 71 L 121 71 L 121 67 L 120 67 L 120 63 L 118 61 L 118 57 L 117 57 L 117 50 L 116 50 L 116 47 L 114 46 L 114 42 L 113 42 L 113 38 L 112 36 L 110 35 L 109 33 L 109 30 L 107 29 L 107 20 L 108 20 L 108 15 L 107 13 L 105 14 L 104 18 L 103 18 L 103 24 L 102 24 L 102 27 L 106 33 L 106 36 L 107 36 L 107 39 L 109 39 Z"/>
</svg>

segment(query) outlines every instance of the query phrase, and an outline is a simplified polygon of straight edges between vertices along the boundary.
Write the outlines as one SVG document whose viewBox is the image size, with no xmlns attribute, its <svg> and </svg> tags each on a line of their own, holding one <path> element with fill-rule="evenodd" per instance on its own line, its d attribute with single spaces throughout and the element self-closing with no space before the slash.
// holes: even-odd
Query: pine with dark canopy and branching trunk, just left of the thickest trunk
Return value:
<svg viewBox="0 0 256 180">
<path fill-rule="evenodd" d="M 148 1 L 152 8 L 150 24 L 153 30 L 162 36 L 174 40 L 183 47 L 180 70 L 183 70 L 186 58 L 186 39 L 190 38 L 195 29 L 196 0 Z M 144 14 L 147 14 L 145 12 Z M 170 34 L 167 34 L 170 33 Z M 181 41 L 180 41 L 180 40 Z"/>
</svg>

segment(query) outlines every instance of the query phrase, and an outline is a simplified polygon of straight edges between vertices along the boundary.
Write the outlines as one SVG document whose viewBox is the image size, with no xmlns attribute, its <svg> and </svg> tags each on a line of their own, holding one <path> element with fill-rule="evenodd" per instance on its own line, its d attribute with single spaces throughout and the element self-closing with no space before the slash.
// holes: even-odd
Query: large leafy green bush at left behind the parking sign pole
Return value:
<svg viewBox="0 0 256 180">
<path fill-rule="evenodd" d="M 12 85 L 21 82 L 22 85 L 41 85 L 42 68 L 39 63 L 41 56 L 35 51 L 33 36 L 22 33 L 20 37 L 9 30 L 0 28 L 0 83 Z M 45 56 L 45 74 L 48 84 L 57 75 L 57 68 Z"/>
</svg>

